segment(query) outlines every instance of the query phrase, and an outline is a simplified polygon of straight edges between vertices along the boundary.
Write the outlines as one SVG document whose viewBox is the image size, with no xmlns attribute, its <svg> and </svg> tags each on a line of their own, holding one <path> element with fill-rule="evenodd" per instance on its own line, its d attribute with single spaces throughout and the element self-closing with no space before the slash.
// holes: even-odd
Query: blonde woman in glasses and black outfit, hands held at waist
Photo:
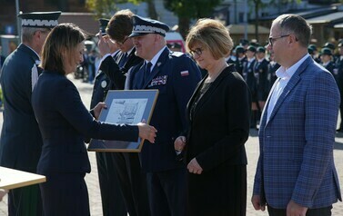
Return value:
<svg viewBox="0 0 343 216">
<path fill-rule="evenodd" d="M 207 76 L 187 104 L 189 130 L 175 142 L 187 162 L 187 215 L 244 216 L 251 96 L 225 56 L 233 43 L 227 28 L 201 19 L 187 35 L 187 48 Z"/>
</svg>

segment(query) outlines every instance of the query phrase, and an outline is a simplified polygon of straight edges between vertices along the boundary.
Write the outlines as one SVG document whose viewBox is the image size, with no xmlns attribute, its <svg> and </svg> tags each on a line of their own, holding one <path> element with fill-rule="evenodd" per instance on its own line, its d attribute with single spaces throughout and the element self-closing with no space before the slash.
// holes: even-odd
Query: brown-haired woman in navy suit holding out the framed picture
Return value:
<svg viewBox="0 0 343 216">
<path fill-rule="evenodd" d="M 32 93 L 35 117 L 43 136 L 37 172 L 46 176 L 40 184 L 45 215 L 90 215 L 84 177 L 90 172 L 85 138 L 155 141 L 156 129 L 145 123 L 100 123 L 105 105 L 88 112 L 76 86 L 66 74 L 83 61 L 86 34 L 76 25 L 57 25 L 47 36 L 42 53 L 44 72 Z"/>
</svg>

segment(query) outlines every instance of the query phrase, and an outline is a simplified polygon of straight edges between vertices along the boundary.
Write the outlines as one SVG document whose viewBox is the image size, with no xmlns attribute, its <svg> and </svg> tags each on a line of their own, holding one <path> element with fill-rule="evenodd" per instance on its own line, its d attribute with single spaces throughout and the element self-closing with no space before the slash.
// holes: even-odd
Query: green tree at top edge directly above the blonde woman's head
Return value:
<svg viewBox="0 0 343 216">
<path fill-rule="evenodd" d="M 164 0 L 164 5 L 177 15 L 179 32 L 185 38 L 190 20 L 212 15 L 221 2 L 223 0 Z"/>
</svg>

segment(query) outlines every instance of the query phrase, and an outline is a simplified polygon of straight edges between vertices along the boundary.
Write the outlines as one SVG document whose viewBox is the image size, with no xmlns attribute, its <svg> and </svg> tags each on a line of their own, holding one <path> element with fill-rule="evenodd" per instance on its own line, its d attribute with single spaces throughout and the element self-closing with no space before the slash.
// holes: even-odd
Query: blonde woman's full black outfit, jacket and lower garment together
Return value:
<svg viewBox="0 0 343 216">
<path fill-rule="evenodd" d="M 191 215 L 237 215 L 235 209 L 245 209 L 247 179 L 236 171 L 246 169 L 251 96 L 235 71 L 229 65 L 219 74 L 191 114 L 205 77 L 187 104 L 185 159 L 188 163 L 196 158 L 203 169 L 201 174 L 188 173 Z"/>
</svg>

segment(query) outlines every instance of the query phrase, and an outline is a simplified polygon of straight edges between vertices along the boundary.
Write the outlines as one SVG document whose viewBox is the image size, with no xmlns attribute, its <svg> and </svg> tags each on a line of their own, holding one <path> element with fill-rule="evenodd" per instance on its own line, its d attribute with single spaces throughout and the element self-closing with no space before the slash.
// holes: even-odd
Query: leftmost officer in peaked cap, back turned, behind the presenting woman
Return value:
<svg viewBox="0 0 343 216">
<path fill-rule="evenodd" d="M 36 172 L 42 136 L 31 105 L 31 93 L 41 69 L 39 54 L 61 12 L 27 13 L 22 19 L 22 44 L 10 54 L 0 78 L 4 93 L 4 123 L 0 141 L 0 165 Z M 44 105 L 44 104 L 42 104 Z M 42 215 L 38 185 L 9 191 L 8 215 Z"/>
</svg>

